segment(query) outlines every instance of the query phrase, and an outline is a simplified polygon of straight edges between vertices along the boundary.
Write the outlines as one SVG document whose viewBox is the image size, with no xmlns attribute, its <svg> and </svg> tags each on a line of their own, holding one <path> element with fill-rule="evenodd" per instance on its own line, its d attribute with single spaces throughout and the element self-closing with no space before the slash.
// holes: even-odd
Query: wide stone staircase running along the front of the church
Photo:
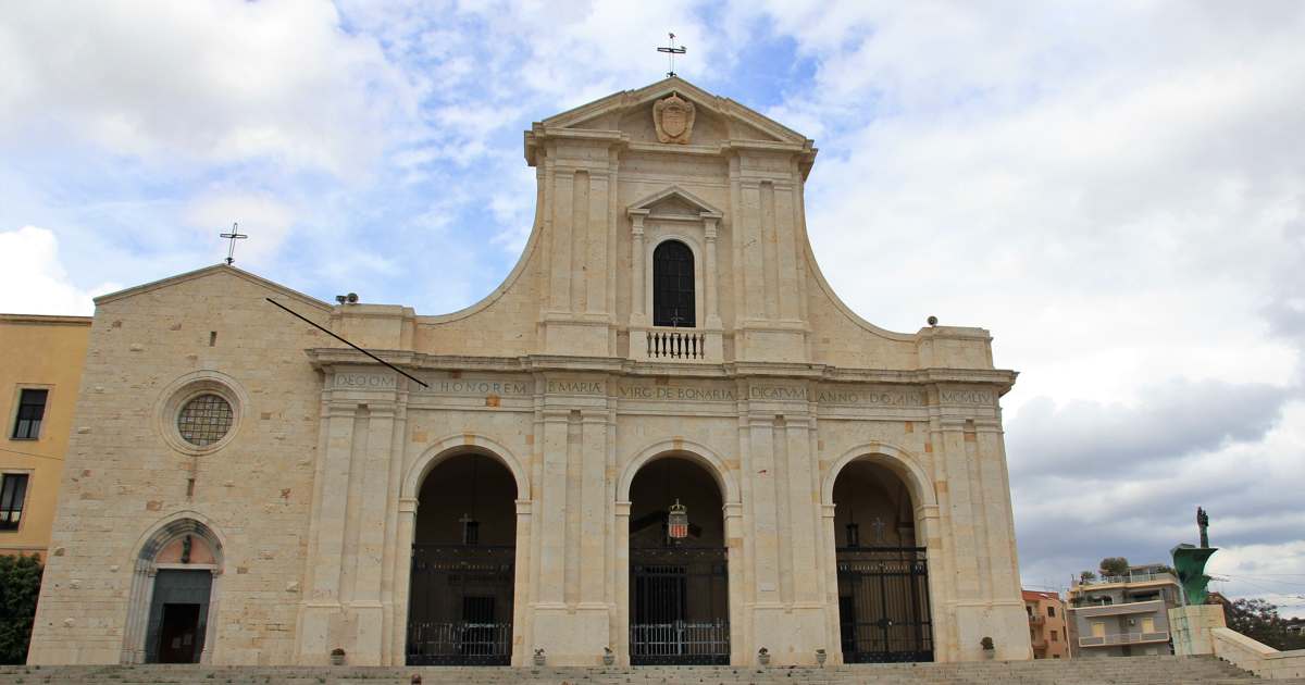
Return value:
<svg viewBox="0 0 1305 685">
<path fill-rule="evenodd" d="M 240 685 L 422 685 L 534 682 L 540 685 L 782 685 L 907 684 L 938 685 L 1177 685 L 1262 681 L 1211 656 L 1120 656 L 1037 662 L 954 664 L 865 664 L 830 668 L 639 667 L 639 668 L 462 668 L 462 667 L 201 667 L 82 665 L 0 667 L 0 684 L 240 684 Z"/>
</svg>

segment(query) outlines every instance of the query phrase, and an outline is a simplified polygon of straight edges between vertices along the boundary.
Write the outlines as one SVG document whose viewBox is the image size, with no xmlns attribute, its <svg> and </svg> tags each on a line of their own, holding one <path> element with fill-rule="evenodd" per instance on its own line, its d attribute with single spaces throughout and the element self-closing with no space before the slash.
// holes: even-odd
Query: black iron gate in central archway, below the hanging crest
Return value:
<svg viewBox="0 0 1305 685">
<path fill-rule="evenodd" d="M 728 664 L 723 547 L 630 549 L 630 664 Z"/>
</svg>

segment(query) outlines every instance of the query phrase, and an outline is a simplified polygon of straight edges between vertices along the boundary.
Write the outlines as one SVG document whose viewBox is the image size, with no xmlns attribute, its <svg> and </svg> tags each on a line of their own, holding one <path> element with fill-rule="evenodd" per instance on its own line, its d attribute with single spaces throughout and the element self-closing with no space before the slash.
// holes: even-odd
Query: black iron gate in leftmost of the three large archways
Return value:
<svg viewBox="0 0 1305 685">
<path fill-rule="evenodd" d="M 408 665 L 512 663 L 513 547 L 412 545 Z"/>
</svg>

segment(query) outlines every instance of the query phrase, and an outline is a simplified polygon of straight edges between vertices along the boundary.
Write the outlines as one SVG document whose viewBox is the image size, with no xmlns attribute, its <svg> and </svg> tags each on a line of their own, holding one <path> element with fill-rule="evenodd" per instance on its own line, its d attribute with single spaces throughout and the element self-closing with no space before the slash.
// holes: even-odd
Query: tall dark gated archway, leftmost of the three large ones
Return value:
<svg viewBox="0 0 1305 685">
<path fill-rule="evenodd" d="M 408 590 L 410 665 L 512 660 L 517 484 L 499 461 L 458 454 L 418 496 Z"/>
</svg>

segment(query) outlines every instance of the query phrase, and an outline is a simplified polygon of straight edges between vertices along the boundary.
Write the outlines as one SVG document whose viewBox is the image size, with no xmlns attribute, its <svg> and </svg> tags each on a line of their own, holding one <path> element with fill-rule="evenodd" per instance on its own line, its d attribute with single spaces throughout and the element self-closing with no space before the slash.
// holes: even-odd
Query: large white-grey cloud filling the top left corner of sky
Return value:
<svg viewBox="0 0 1305 685">
<path fill-rule="evenodd" d="M 0 22 L 0 136 L 64 132 L 155 163 L 269 158 L 355 174 L 410 84 L 326 1 L 26 3 Z M 180 158 L 180 159 L 179 159 Z"/>
</svg>

